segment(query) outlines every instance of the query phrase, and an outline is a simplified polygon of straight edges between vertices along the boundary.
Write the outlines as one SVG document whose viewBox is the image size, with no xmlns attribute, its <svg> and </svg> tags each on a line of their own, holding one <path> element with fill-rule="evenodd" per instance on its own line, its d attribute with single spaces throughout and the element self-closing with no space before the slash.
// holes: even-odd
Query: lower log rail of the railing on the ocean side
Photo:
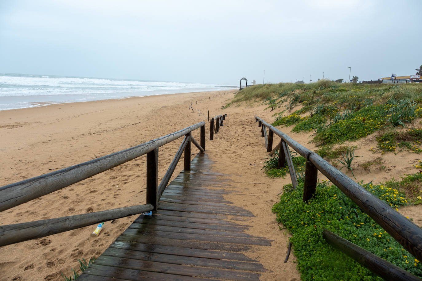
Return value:
<svg viewBox="0 0 422 281">
<path fill-rule="evenodd" d="M 15 225 L 2 225 L 0 226 L 0 246 L 41 238 L 51 234 L 61 233 L 88 225 L 95 225 L 99 222 L 119 219 L 134 214 L 141 214 L 143 212 L 151 211 L 152 209 L 153 206 L 147 204 L 70 217 L 24 222 Z"/>
</svg>

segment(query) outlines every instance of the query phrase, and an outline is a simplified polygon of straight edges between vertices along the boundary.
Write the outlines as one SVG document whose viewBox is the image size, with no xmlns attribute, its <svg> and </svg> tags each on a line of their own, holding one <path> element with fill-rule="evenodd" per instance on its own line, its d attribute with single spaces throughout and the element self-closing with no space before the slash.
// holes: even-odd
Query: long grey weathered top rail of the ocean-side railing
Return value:
<svg viewBox="0 0 422 281">
<path fill-rule="evenodd" d="M 44 174 L 21 182 L 0 187 L 0 211 L 10 209 L 32 199 L 60 190 L 83 179 L 107 171 L 122 163 L 153 151 L 191 131 L 204 126 L 205 122 L 186 127 L 172 134 L 153 139 L 141 145 L 128 148 L 88 162 L 80 163 L 59 171 Z"/>
</svg>

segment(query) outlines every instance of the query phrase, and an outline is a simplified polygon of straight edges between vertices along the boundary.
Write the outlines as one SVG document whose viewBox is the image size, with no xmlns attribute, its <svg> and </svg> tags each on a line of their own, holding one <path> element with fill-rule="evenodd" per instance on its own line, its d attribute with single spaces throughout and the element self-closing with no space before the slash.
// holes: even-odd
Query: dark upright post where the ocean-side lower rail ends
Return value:
<svg viewBox="0 0 422 281">
<path fill-rule="evenodd" d="M 157 211 L 158 148 L 146 154 L 146 203 Z"/>
</svg>

